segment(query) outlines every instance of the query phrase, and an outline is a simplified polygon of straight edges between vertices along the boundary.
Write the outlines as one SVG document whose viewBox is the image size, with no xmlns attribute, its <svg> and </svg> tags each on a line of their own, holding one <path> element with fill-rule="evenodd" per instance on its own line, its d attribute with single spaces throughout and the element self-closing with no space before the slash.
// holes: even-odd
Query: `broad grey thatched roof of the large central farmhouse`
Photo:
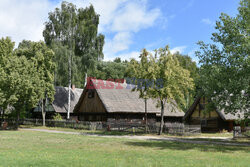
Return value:
<svg viewBox="0 0 250 167">
<path fill-rule="evenodd" d="M 139 92 L 131 91 L 134 85 L 119 83 L 120 86 L 118 86 L 118 83 L 112 82 L 115 85 L 114 88 L 103 89 L 96 87 L 98 82 L 102 82 L 101 80 L 91 79 L 90 82 L 95 85 L 95 90 L 108 113 L 145 113 L 144 99 L 139 98 Z M 103 83 L 106 86 L 106 81 L 103 81 Z M 79 110 L 85 94 L 82 94 L 74 112 Z M 156 105 L 156 100 L 148 99 L 147 112 L 160 114 L 160 107 L 156 107 Z M 173 104 L 166 104 L 164 116 L 182 117 L 184 116 L 184 112 L 177 109 Z"/>
</svg>

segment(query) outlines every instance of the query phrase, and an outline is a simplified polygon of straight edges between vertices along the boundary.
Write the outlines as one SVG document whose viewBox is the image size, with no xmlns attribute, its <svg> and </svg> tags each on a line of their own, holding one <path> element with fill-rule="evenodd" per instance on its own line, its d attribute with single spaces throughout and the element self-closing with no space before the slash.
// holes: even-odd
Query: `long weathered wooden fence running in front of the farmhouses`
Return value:
<svg viewBox="0 0 250 167">
<path fill-rule="evenodd" d="M 7 128 L 15 126 L 16 120 L 5 119 L 5 124 L 8 124 Z M 20 119 L 20 125 L 32 125 L 41 126 L 42 119 Z M 62 127 L 62 128 L 74 128 L 84 130 L 105 130 L 105 131 L 119 131 L 119 132 L 131 132 L 131 133 L 144 133 L 145 124 L 141 121 L 108 121 L 108 122 L 88 122 L 88 121 L 75 121 L 75 120 L 49 120 L 45 121 L 45 125 L 48 127 Z M 6 126 L 6 125 L 5 125 Z M 3 127 L 3 126 L 2 126 Z M 149 122 L 147 129 L 149 133 L 157 133 L 160 128 L 159 122 Z M 183 123 L 166 122 L 163 126 L 163 132 L 177 135 L 188 135 L 201 132 L 200 126 L 184 125 Z"/>
</svg>

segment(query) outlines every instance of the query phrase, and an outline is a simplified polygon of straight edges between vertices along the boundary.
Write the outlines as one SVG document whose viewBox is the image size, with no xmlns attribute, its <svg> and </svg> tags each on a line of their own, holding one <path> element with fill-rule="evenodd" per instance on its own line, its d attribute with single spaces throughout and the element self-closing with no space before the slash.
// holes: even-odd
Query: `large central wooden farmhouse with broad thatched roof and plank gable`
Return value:
<svg viewBox="0 0 250 167">
<path fill-rule="evenodd" d="M 90 86 L 91 85 L 91 86 Z M 74 114 L 80 121 L 145 120 L 145 101 L 138 92 L 132 92 L 131 84 L 90 79 L 85 87 Z M 165 122 L 181 122 L 184 112 L 173 104 L 166 104 Z M 148 122 L 160 120 L 157 102 L 147 100 Z"/>
</svg>

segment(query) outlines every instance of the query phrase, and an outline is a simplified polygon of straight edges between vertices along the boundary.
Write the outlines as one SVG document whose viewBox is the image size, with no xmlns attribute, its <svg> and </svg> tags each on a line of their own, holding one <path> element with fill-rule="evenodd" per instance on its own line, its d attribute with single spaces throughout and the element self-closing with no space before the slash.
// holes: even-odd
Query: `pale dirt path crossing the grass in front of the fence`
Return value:
<svg viewBox="0 0 250 167">
<path fill-rule="evenodd" d="M 228 137 L 202 137 L 202 138 L 174 138 L 174 137 L 158 137 L 158 136 L 120 136 L 120 135 L 101 135 L 101 134 L 89 134 L 81 132 L 66 132 L 58 130 L 48 130 L 48 129 L 30 129 L 30 128 L 21 128 L 20 130 L 24 131 L 37 131 L 37 132 L 47 132 L 47 133 L 61 133 L 61 134 L 70 134 L 70 135 L 84 135 L 84 136 L 96 136 L 96 137 L 106 137 L 106 138 L 126 138 L 126 139 L 137 139 L 137 140 L 155 140 L 155 141 L 174 141 L 182 143 L 191 143 L 191 144 L 217 144 L 217 145 L 228 145 L 228 146 L 248 146 L 250 143 L 233 143 L 230 142 Z M 199 140 L 202 139 L 202 140 Z M 209 141 L 210 139 L 220 139 L 221 141 Z"/>
</svg>

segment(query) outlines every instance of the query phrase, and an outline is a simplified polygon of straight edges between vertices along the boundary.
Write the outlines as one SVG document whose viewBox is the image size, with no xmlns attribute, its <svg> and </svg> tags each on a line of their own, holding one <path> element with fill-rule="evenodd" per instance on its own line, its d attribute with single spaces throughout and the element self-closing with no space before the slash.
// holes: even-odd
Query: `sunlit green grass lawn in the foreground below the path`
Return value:
<svg viewBox="0 0 250 167">
<path fill-rule="evenodd" d="M 249 166 L 250 147 L 0 131 L 0 166 Z"/>
</svg>

